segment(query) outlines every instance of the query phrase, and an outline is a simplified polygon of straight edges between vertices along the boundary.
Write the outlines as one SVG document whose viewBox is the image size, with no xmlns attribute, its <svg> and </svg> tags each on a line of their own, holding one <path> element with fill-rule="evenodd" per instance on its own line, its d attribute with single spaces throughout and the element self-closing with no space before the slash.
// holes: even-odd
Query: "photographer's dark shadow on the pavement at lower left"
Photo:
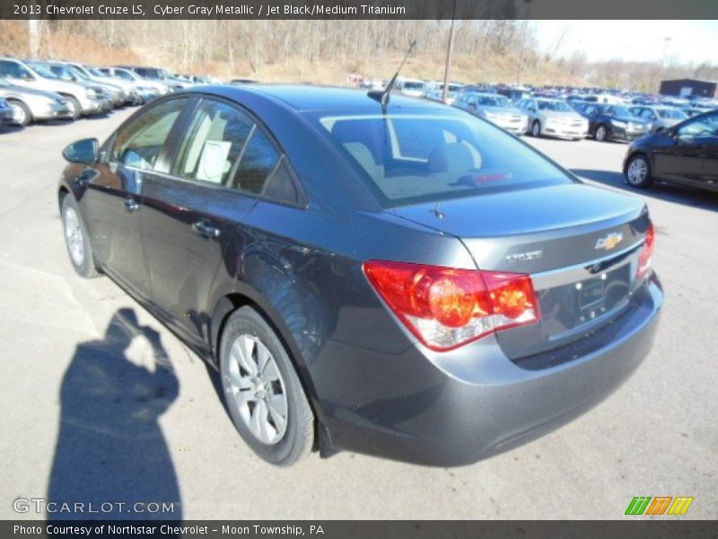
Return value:
<svg viewBox="0 0 718 539">
<path fill-rule="evenodd" d="M 140 325 L 132 309 L 118 310 L 101 340 L 79 344 L 60 390 L 48 520 L 181 519 L 159 424 L 179 393 L 160 334 Z M 77 503 L 83 511 L 74 510 Z"/>
</svg>

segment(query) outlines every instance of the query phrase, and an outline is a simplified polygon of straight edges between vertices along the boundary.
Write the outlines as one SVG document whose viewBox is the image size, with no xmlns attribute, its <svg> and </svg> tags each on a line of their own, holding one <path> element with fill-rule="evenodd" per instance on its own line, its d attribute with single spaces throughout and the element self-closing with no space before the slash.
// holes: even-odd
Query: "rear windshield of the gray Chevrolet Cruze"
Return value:
<svg viewBox="0 0 718 539">
<path fill-rule="evenodd" d="M 318 112 L 313 120 L 370 180 L 384 207 L 574 181 L 516 137 L 468 114 Z"/>
</svg>

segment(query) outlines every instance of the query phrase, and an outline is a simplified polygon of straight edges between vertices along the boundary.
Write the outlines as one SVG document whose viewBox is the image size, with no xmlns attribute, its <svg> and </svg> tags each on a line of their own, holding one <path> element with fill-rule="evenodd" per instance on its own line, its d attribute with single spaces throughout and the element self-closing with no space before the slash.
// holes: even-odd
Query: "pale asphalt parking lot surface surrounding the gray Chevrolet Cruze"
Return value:
<svg viewBox="0 0 718 539">
<path fill-rule="evenodd" d="M 186 519 L 624 518 L 634 496 L 692 496 L 686 517 L 718 517 L 718 194 L 630 191 L 657 226 L 667 300 L 651 355 L 596 409 L 467 467 L 343 453 L 276 469 L 241 442 L 203 363 L 108 278 L 83 280 L 67 260 L 60 151 L 104 139 L 131 111 L 0 132 L 0 518 L 45 517 L 17 514 L 13 499 L 48 492 L 140 492 L 180 501 Z M 591 183 L 628 189 L 626 145 L 526 140 Z M 173 374 L 152 408 L 143 388 L 158 361 Z M 93 430 L 117 444 L 95 445 Z M 68 434 L 78 431 L 89 434 Z M 75 482 L 87 466 L 92 481 Z"/>
</svg>

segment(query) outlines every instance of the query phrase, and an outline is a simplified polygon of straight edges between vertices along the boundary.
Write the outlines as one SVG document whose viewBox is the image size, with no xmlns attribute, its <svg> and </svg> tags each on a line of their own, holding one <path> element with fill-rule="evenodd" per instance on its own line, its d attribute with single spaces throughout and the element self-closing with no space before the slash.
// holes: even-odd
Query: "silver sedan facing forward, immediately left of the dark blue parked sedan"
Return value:
<svg viewBox="0 0 718 539">
<path fill-rule="evenodd" d="M 588 135 L 589 121 L 564 101 L 530 97 L 518 106 L 528 115 L 527 130 L 534 137 L 580 140 Z"/>
</svg>

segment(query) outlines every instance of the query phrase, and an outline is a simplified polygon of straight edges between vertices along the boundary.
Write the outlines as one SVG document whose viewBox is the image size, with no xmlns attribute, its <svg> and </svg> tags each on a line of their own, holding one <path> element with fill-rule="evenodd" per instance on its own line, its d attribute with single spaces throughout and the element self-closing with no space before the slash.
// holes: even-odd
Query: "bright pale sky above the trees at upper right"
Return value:
<svg viewBox="0 0 718 539">
<path fill-rule="evenodd" d="M 554 57 L 570 57 L 578 49 L 591 61 L 618 58 L 668 64 L 718 64 L 718 21 L 531 21 L 529 24 L 536 33 L 538 49 Z"/>
</svg>

